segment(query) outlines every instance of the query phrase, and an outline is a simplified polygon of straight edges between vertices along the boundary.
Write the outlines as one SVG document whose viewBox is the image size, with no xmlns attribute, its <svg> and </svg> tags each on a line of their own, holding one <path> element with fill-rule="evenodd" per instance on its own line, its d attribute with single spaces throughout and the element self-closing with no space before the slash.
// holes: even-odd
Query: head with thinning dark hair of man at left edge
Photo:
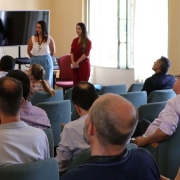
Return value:
<svg viewBox="0 0 180 180">
<path fill-rule="evenodd" d="M 10 77 L 0 78 L 0 115 L 17 116 L 22 104 L 21 82 Z"/>
</svg>

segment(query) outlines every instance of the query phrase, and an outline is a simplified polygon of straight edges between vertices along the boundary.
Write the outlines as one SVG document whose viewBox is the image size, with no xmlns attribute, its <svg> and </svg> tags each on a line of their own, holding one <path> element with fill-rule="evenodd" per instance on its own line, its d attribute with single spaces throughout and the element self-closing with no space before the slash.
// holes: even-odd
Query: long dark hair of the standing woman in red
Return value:
<svg viewBox="0 0 180 180">
<path fill-rule="evenodd" d="M 76 24 L 76 26 L 80 26 L 82 29 L 80 45 L 82 47 L 82 52 L 84 52 L 86 47 L 87 47 L 87 41 L 88 41 L 88 34 L 87 34 L 86 25 L 82 22 L 79 22 Z"/>
</svg>

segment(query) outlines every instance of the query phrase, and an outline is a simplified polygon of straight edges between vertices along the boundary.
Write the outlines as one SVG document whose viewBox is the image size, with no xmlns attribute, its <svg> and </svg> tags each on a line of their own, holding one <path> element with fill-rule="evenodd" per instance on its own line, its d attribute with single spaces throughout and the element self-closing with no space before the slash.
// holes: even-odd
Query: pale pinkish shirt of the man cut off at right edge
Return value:
<svg viewBox="0 0 180 180">
<path fill-rule="evenodd" d="M 158 128 L 167 135 L 172 135 L 177 128 L 180 118 L 180 95 L 169 99 L 165 108 L 160 112 L 146 130 L 143 136 L 153 134 Z"/>
</svg>

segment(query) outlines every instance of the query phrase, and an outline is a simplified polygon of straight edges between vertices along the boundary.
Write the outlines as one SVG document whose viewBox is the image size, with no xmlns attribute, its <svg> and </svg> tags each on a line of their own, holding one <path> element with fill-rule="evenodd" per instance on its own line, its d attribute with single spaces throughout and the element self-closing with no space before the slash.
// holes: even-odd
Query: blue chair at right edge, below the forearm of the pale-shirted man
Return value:
<svg viewBox="0 0 180 180">
<path fill-rule="evenodd" d="M 168 139 L 145 146 L 154 157 L 160 174 L 174 179 L 180 167 L 180 123 L 176 132 Z"/>
</svg>

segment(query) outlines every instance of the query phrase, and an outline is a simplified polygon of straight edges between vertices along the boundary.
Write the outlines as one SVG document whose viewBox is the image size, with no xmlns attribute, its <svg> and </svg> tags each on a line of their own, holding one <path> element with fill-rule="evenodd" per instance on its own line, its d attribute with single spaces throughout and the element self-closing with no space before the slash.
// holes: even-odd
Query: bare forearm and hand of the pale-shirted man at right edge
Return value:
<svg viewBox="0 0 180 180">
<path fill-rule="evenodd" d="M 138 137 L 135 139 L 135 144 L 137 146 L 146 146 L 147 144 L 151 143 L 158 143 L 160 141 L 163 141 L 169 137 L 168 134 L 165 134 L 163 131 L 161 131 L 159 128 L 150 136 L 148 137 Z"/>
</svg>

